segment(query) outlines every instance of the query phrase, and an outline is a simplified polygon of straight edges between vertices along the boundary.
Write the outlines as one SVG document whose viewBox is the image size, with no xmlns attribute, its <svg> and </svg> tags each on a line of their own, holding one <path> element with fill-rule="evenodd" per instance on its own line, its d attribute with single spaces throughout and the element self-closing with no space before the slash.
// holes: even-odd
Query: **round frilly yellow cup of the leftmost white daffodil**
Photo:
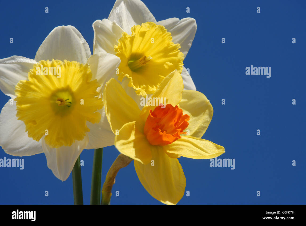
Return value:
<svg viewBox="0 0 306 226">
<path fill-rule="evenodd" d="M 103 107 L 97 80 L 86 64 L 76 61 L 39 61 L 28 73 L 28 81 L 15 87 L 17 118 L 28 136 L 39 141 L 43 135 L 51 148 L 71 146 L 89 132 L 86 121 L 97 123 Z"/>
</svg>

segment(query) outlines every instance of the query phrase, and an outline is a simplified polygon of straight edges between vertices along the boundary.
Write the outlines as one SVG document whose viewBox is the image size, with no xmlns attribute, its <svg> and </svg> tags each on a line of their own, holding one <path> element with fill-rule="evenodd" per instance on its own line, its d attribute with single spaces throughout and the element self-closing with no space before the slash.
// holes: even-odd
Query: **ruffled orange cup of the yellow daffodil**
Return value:
<svg viewBox="0 0 306 226">
<path fill-rule="evenodd" d="M 177 105 L 167 104 L 165 108 L 155 107 L 144 125 L 144 134 L 151 145 L 168 145 L 180 139 L 189 123 L 189 115 L 183 115 L 183 110 Z"/>
</svg>

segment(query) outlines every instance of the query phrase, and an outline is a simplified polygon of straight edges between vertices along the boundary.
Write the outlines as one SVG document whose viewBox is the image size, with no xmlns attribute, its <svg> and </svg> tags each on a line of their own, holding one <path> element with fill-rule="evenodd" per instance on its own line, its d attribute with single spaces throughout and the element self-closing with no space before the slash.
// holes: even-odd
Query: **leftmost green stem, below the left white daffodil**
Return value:
<svg viewBox="0 0 306 226">
<path fill-rule="evenodd" d="M 73 183 L 73 200 L 74 205 L 83 205 L 83 191 L 82 191 L 82 176 L 80 156 L 77 158 L 72 170 L 72 183 Z"/>
</svg>

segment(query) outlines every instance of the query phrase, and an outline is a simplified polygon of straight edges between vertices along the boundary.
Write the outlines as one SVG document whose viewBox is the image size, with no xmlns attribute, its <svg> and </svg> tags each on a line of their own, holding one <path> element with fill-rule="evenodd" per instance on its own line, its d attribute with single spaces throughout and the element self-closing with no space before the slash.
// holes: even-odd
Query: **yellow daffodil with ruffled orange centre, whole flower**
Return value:
<svg viewBox="0 0 306 226">
<path fill-rule="evenodd" d="M 166 105 L 146 105 L 140 110 L 114 78 L 106 83 L 103 93 L 110 127 L 114 133 L 117 130 L 116 148 L 134 159 L 141 184 L 154 198 L 176 204 L 186 186 L 177 158 L 211 159 L 225 151 L 201 139 L 213 108 L 202 93 L 183 90 L 178 71 L 161 82 L 152 98 L 166 98 Z"/>
</svg>

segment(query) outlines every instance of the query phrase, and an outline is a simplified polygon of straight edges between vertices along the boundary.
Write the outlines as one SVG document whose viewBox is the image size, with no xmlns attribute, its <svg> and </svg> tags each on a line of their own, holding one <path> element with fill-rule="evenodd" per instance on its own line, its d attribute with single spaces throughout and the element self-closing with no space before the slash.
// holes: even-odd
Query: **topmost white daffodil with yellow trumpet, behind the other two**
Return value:
<svg viewBox="0 0 306 226">
<path fill-rule="evenodd" d="M 170 72 L 181 73 L 184 88 L 196 87 L 183 60 L 196 33 L 193 18 L 169 18 L 157 22 L 140 0 L 117 0 L 108 19 L 93 23 L 94 53 L 107 52 L 118 56 L 118 80 L 137 98 L 155 92 Z M 124 80 L 124 78 L 126 78 Z M 129 92 L 129 91 L 128 91 Z M 140 96 L 140 97 L 139 97 Z"/>
</svg>

